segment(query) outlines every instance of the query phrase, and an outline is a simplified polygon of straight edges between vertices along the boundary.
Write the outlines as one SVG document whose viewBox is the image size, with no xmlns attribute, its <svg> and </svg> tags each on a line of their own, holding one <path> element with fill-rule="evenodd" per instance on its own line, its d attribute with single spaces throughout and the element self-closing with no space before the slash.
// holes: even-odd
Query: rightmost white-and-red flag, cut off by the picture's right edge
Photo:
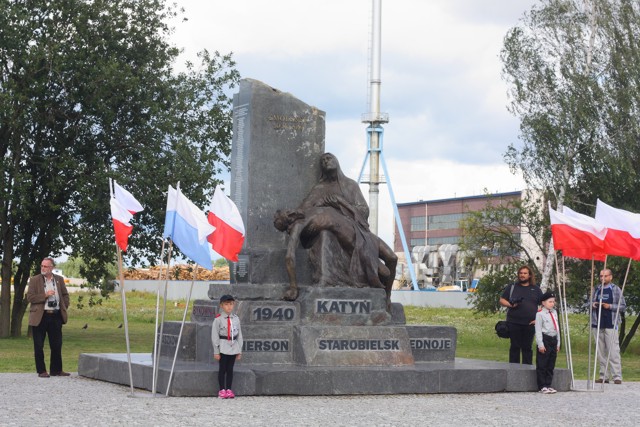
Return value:
<svg viewBox="0 0 640 427">
<path fill-rule="evenodd" d="M 640 260 L 640 214 L 611 207 L 598 199 L 596 221 L 609 229 L 605 239 L 607 254 Z"/>
</svg>

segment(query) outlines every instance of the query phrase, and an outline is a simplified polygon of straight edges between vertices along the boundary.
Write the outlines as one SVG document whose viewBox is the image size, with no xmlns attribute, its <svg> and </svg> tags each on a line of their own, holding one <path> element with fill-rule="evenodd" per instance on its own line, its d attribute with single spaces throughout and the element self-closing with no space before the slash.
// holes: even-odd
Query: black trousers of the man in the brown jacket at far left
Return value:
<svg viewBox="0 0 640 427">
<path fill-rule="evenodd" d="M 62 315 L 60 311 L 56 311 L 55 314 L 44 313 L 40 324 L 34 326 L 32 332 L 36 371 L 39 374 L 47 371 L 47 365 L 44 363 L 44 339 L 48 336 L 49 348 L 51 349 L 49 367 L 54 374 L 62 372 Z"/>
</svg>

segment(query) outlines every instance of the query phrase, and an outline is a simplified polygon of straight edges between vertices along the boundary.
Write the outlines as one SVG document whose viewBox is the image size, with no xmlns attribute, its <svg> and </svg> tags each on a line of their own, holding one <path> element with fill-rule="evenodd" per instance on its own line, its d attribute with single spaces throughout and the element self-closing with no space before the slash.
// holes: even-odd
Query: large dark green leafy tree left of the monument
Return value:
<svg viewBox="0 0 640 427">
<path fill-rule="evenodd" d="M 134 263 L 157 257 L 168 184 L 202 203 L 220 182 L 239 74 L 207 51 L 175 72 L 176 16 L 163 0 L 0 3 L 0 336 L 20 335 L 43 257 L 68 250 L 91 283 L 113 262 L 108 178 L 146 207 Z"/>
</svg>

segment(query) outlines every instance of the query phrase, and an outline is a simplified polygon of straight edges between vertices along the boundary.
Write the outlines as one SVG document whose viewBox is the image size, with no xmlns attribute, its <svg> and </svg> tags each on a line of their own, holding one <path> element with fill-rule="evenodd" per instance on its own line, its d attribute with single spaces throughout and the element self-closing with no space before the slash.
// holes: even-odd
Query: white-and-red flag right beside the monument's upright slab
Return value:
<svg viewBox="0 0 640 427">
<path fill-rule="evenodd" d="M 229 261 L 237 262 L 244 243 L 244 223 L 238 207 L 220 187 L 213 193 L 208 220 L 216 228 L 207 237 L 213 250 Z"/>
</svg>

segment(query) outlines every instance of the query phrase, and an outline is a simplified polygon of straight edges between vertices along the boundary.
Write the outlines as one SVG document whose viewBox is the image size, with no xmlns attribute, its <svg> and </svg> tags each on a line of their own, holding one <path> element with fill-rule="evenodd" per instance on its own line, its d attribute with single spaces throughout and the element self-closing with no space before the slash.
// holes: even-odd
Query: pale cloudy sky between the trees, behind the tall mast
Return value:
<svg viewBox="0 0 640 427">
<path fill-rule="evenodd" d="M 260 80 L 326 112 L 325 149 L 358 178 L 366 156 L 371 0 L 175 0 L 185 22 L 172 43 L 194 60 L 233 53 Z M 500 49 L 535 0 L 382 1 L 381 102 L 389 114 L 383 156 L 397 203 L 524 188 L 503 154 L 519 146 L 507 111 Z M 365 168 L 368 173 L 368 165 Z M 393 244 L 389 185 L 378 235 Z M 225 188 L 230 188 L 229 185 Z M 361 186 L 369 199 L 368 186 Z"/>
</svg>

